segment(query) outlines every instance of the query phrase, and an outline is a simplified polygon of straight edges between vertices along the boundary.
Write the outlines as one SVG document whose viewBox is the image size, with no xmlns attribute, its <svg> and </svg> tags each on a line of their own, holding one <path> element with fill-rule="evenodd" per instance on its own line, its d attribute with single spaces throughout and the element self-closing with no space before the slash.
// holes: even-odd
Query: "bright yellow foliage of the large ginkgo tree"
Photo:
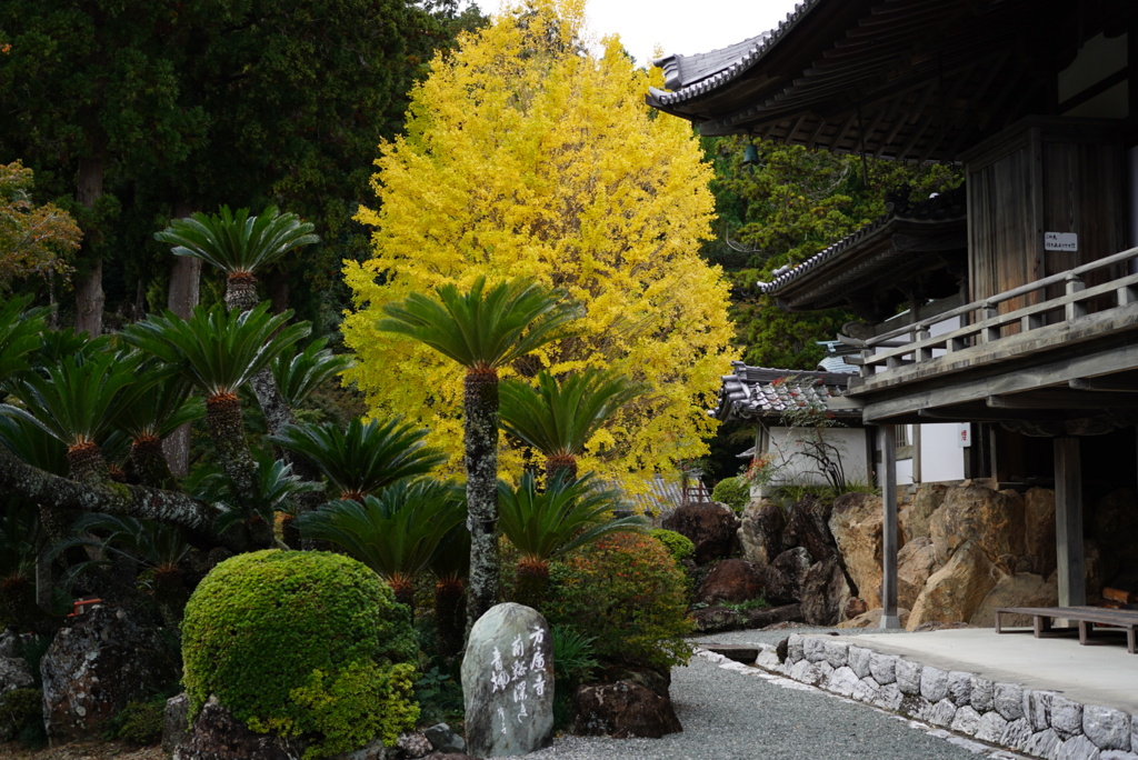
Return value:
<svg viewBox="0 0 1138 760">
<path fill-rule="evenodd" d="M 585 307 L 574 337 L 502 374 L 594 366 L 644 383 L 579 463 L 621 477 L 706 451 L 732 327 L 723 273 L 698 255 L 710 166 L 686 122 L 645 106 L 659 72 L 634 68 L 617 39 L 591 53 L 583 18 L 584 0 L 503 11 L 412 91 L 406 135 L 380 146 L 377 203 L 357 216 L 373 256 L 346 269 L 344 333 L 360 360 L 347 375 L 374 413 L 409 415 L 457 454 L 463 372 L 380 333 L 382 307 L 478 276 L 562 288 Z M 506 453 L 505 473 L 519 456 Z"/>
</svg>

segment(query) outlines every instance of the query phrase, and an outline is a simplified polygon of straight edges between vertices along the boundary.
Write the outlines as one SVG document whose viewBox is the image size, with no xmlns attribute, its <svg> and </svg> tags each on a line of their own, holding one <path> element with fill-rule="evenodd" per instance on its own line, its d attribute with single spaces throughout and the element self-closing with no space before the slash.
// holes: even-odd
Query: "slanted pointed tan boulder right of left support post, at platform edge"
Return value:
<svg viewBox="0 0 1138 760">
<path fill-rule="evenodd" d="M 971 620 L 1003 575 L 976 542 L 964 542 L 948 563 L 929 577 L 913 604 L 906 629 L 926 622 Z"/>
</svg>

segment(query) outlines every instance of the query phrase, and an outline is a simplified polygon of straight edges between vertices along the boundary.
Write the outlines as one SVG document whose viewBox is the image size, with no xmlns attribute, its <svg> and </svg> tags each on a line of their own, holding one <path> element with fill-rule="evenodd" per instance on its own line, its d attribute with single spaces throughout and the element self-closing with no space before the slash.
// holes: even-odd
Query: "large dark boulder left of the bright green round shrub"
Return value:
<svg viewBox="0 0 1138 760">
<path fill-rule="evenodd" d="M 94 604 L 60 628 L 40 661 L 48 736 L 90 738 L 127 702 L 147 700 L 178 681 L 170 637 L 138 611 Z"/>
</svg>

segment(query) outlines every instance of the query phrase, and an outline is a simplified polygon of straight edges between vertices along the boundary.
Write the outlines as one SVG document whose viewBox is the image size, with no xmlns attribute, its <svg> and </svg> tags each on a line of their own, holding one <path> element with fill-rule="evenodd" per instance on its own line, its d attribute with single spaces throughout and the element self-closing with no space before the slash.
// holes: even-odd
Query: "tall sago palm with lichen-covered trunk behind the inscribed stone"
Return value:
<svg viewBox="0 0 1138 760">
<path fill-rule="evenodd" d="M 497 602 L 498 375 L 503 365 L 567 333 L 582 314 L 561 290 L 528 280 L 487 288 L 478 278 L 467 292 L 454 284 L 435 298 L 412 294 L 384 307 L 380 330 L 409 336 L 467 369 L 463 464 L 470 510 L 470 588 L 467 626 Z"/>
</svg>

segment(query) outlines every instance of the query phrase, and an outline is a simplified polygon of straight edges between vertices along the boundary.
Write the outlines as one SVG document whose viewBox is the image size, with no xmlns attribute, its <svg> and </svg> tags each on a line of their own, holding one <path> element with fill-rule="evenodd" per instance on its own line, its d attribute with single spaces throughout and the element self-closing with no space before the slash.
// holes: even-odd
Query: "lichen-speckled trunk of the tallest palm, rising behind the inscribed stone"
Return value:
<svg viewBox="0 0 1138 760">
<path fill-rule="evenodd" d="M 465 378 L 463 463 L 470 527 L 467 635 L 498 597 L 497 548 L 497 372 L 469 370 Z"/>
</svg>

